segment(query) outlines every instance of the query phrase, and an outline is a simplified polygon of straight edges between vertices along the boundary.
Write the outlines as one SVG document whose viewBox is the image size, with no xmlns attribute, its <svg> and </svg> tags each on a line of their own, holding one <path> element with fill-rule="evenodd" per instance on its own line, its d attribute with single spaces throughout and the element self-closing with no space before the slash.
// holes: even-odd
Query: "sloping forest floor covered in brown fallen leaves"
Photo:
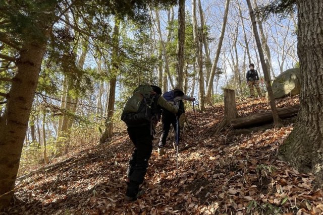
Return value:
<svg viewBox="0 0 323 215">
<path fill-rule="evenodd" d="M 277 101 L 278 107 L 296 103 L 297 97 Z M 240 116 L 270 109 L 263 98 L 238 102 L 237 108 Z M 110 145 L 89 144 L 64 165 L 23 180 L 6 213 L 322 214 L 323 191 L 315 189 L 314 176 L 277 159 L 293 124 L 212 136 L 223 114 L 223 105 L 196 116 L 187 112 L 191 126 L 181 134 L 181 148 L 189 147 L 180 151 L 178 176 L 171 141 L 168 154 L 158 157 L 156 135 L 146 191 L 135 202 L 124 201 L 132 151 L 125 132 Z"/>
</svg>

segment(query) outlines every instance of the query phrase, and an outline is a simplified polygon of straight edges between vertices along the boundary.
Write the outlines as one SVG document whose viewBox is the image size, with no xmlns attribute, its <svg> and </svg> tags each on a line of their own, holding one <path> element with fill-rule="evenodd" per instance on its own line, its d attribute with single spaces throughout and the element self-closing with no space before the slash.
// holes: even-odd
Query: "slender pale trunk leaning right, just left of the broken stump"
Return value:
<svg viewBox="0 0 323 215">
<path fill-rule="evenodd" d="M 209 104 L 211 103 L 211 93 L 212 93 L 212 88 L 213 88 L 212 83 L 214 80 L 214 76 L 216 75 L 218 61 L 219 61 L 219 57 L 220 57 L 220 53 L 221 53 L 222 42 L 223 42 L 224 34 L 226 31 L 228 13 L 229 13 L 229 5 L 230 5 L 230 0 L 226 0 L 226 8 L 225 8 L 224 17 L 223 17 L 223 23 L 222 23 L 222 29 L 221 29 L 221 35 L 220 35 L 220 39 L 219 39 L 218 49 L 217 49 L 216 56 L 214 57 L 214 60 L 212 63 L 211 74 L 210 74 L 210 78 L 209 78 L 208 84 L 207 84 L 205 101 Z"/>
</svg>

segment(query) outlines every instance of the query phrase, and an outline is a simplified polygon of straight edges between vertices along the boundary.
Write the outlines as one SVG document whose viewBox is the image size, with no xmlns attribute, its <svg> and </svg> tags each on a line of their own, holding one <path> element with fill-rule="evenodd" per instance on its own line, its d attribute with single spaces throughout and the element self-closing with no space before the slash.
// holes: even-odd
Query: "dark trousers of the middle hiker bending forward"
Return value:
<svg viewBox="0 0 323 215">
<path fill-rule="evenodd" d="M 176 134 L 176 114 L 171 113 L 167 110 L 163 110 L 163 115 L 161 116 L 161 122 L 163 123 L 163 131 L 161 132 L 158 148 L 165 147 L 167 136 L 168 136 L 168 133 L 170 132 L 171 124 L 173 125 L 174 131 Z"/>
</svg>

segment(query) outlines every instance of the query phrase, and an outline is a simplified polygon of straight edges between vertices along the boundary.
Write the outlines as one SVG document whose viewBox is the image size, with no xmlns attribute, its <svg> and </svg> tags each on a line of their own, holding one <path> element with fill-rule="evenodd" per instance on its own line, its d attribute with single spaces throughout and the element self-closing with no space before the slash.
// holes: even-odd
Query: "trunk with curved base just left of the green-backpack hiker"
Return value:
<svg viewBox="0 0 323 215">
<path fill-rule="evenodd" d="M 120 19 L 115 19 L 115 27 L 112 36 L 112 73 L 114 77 L 110 80 L 109 89 L 109 104 L 107 106 L 107 120 L 105 122 L 105 130 L 100 138 L 100 144 L 103 144 L 107 139 L 113 136 L 113 115 L 115 112 L 115 99 L 116 99 L 116 85 L 117 75 L 119 71 L 119 31 L 120 31 Z"/>
</svg>

